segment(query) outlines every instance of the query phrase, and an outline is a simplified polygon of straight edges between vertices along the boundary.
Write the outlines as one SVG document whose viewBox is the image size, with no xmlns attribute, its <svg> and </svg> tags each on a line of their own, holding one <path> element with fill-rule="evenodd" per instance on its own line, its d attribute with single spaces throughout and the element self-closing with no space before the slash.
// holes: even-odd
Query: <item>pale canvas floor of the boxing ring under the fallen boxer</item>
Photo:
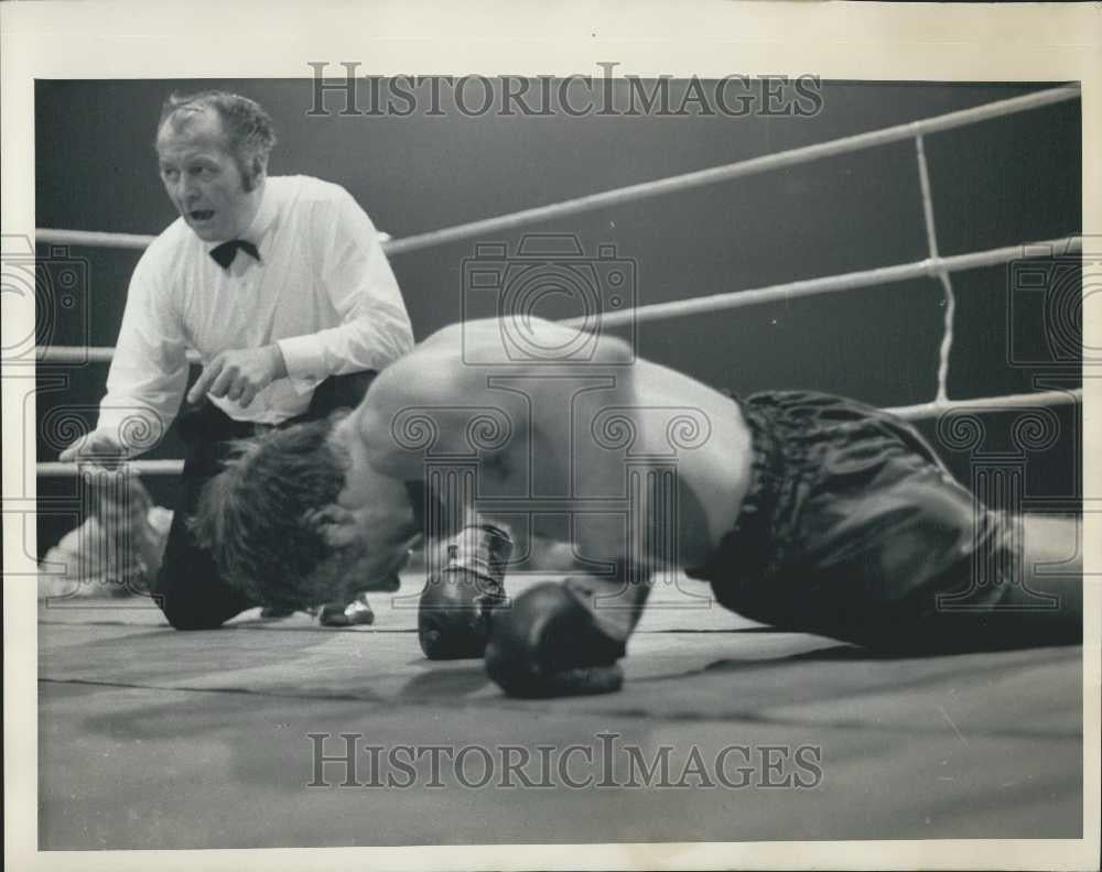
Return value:
<svg viewBox="0 0 1102 872">
<path fill-rule="evenodd" d="M 652 598 L 620 693 L 518 700 L 421 655 L 422 584 L 342 630 L 41 604 L 41 849 L 1081 833 L 1080 647 L 875 657 L 685 581 Z"/>
</svg>

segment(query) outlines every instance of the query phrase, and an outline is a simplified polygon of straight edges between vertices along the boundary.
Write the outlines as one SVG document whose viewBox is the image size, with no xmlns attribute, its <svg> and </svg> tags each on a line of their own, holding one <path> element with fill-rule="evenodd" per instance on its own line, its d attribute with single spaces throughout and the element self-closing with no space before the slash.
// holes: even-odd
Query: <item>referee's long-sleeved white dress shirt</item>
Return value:
<svg viewBox="0 0 1102 872">
<path fill-rule="evenodd" d="M 222 351 L 278 342 L 287 379 L 247 408 L 208 397 L 237 421 L 267 424 L 305 412 L 328 375 L 381 370 L 412 349 L 379 233 L 339 185 L 268 178 L 240 238 L 257 246 L 260 260 L 239 250 L 224 270 L 210 257 L 215 244 L 177 218 L 134 268 L 97 426 L 131 454 L 152 447 L 175 417 L 187 349 L 205 366 Z"/>
</svg>

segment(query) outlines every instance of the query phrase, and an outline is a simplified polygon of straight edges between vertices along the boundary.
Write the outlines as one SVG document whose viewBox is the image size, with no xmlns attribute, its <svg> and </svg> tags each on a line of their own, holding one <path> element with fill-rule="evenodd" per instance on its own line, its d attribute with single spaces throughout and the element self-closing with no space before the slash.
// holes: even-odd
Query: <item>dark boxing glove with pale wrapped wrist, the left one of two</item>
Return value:
<svg viewBox="0 0 1102 872">
<path fill-rule="evenodd" d="M 508 533 L 489 524 L 467 527 L 447 545 L 447 564 L 421 591 L 418 641 L 429 660 L 480 657 L 490 612 L 505 602 Z"/>
</svg>

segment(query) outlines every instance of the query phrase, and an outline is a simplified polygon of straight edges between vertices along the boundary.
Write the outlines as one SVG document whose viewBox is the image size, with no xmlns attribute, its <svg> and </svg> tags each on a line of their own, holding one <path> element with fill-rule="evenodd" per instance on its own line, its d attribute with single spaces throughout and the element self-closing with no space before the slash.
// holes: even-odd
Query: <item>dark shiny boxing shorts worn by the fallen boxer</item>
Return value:
<svg viewBox="0 0 1102 872">
<path fill-rule="evenodd" d="M 997 612 L 1015 584 L 1020 521 L 980 503 L 912 426 L 810 392 L 739 407 L 748 490 L 734 530 L 688 570 L 721 604 L 887 651 L 1013 644 L 1017 622 Z"/>
</svg>

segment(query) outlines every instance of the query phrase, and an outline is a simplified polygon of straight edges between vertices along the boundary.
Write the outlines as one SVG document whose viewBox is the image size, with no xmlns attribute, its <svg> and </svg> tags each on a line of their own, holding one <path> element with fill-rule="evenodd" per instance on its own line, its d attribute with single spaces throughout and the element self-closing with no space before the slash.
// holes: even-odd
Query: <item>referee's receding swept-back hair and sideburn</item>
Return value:
<svg viewBox="0 0 1102 872">
<path fill-rule="evenodd" d="M 256 100 L 239 94 L 219 90 L 171 94 L 161 107 L 158 135 L 166 123 L 175 130 L 186 123 L 186 119 L 205 111 L 213 111 L 222 119 L 228 151 L 241 172 L 245 189 L 252 190 L 276 145 L 271 116 Z"/>
</svg>

